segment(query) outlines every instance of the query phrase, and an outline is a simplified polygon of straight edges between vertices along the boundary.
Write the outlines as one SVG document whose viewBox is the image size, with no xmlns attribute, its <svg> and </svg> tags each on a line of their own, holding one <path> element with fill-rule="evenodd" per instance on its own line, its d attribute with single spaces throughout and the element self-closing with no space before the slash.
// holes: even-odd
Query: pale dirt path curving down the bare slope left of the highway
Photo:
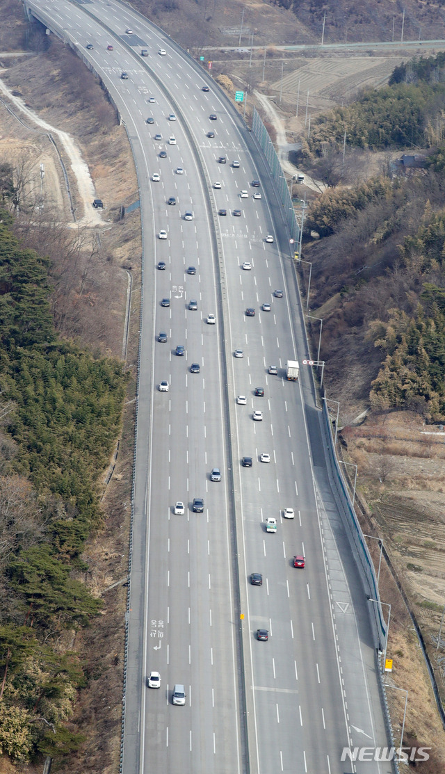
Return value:
<svg viewBox="0 0 445 774">
<path fill-rule="evenodd" d="M 67 134 L 67 132 L 61 132 L 60 129 L 56 129 L 55 127 L 46 123 L 46 121 L 43 121 L 42 118 L 39 118 L 39 116 L 36 115 L 34 111 L 26 107 L 26 104 L 22 98 L 15 97 L 14 94 L 12 94 L 12 92 L 1 79 L 0 91 L 6 98 L 9 99 L 9 101 L 14 104 L 17 111 L 20 111 L 23 116 L 26 116 L 30 122 L 33 122 L 42 128 L 44 132 L 48 132 L 53 135 L 60 146 L 62 146 L 59 148 L 60 152 L 63 150 L 70 161 L 71 170 L 73 171 L 76 178 L 77 192 L 84 207 L 84 217 L 82 217 L 80 221 L 77 221 L 77 225 L 104 225 L 101 211 L 94 210 L 94 208 L 91 206 L 93 200 L 97 198 L 96 192 L 94 190 L 94 183 L 93 180 L 91 180 L 90 170 L 88 169 L 87 163 L 84 162 L 84 159 L 82 158 L 80 150 L 74 142 L 74 139 L 69 134 Z M 32 127 L 29 126 L 27 126 L 27 128 L 32 129 Z"/>
</svg>

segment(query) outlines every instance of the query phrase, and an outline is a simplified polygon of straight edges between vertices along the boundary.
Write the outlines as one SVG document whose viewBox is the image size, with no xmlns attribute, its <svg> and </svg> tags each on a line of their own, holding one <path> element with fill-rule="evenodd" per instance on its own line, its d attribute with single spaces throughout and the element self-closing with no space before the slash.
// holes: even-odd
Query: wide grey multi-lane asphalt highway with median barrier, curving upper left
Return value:
<svg viewBox="0 0 445 774">
<path fill-rule="evenodd" d="M 211 80 L 126 6 L 29 7 L 104 80 L 139 177 L 144 262 L 123 770 L 340 774 L 365 765 L 386 774 L 389 763 L 341 761 L 343 748 L 387 738 L 367 602 L 330 491 L 310 376 L 284 376 L 286 361 L 306 351 L 287 235 L 262 158 Z M 214 467 L 221 481 L 211 481 Z M 193 512 L 193 498 L 204 500 L 203 512 Z M 178 501 L 183 514 L 174 513 Z M 283 518 L 286 508 L 293 519 Z M 265 532 L 269 516 L 275 534 Z M 293 567 L 296 554 L 306 557 L 304 569 Z M 159 690 L 147 687 L 152 670 Z M 177 683 L 187 694 L 182 707 L 172 702 Z"/>
</svg>

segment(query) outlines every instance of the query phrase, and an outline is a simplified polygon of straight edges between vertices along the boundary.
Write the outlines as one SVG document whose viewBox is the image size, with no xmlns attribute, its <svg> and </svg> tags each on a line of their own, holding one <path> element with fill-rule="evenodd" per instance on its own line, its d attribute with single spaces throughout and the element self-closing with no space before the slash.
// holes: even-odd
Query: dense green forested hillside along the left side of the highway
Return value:
<svg viewBox="0 0 445 774">
<path fill-rule="evenodd" d="M 101 524 L 126 378 L 56 334 L 49 261 L 0 220 L 0 749 L 60 759 L 82 739 L 67 724 L 86 683 L 73 642 L 101 601 L 81 554 Z"/>
</svg>

